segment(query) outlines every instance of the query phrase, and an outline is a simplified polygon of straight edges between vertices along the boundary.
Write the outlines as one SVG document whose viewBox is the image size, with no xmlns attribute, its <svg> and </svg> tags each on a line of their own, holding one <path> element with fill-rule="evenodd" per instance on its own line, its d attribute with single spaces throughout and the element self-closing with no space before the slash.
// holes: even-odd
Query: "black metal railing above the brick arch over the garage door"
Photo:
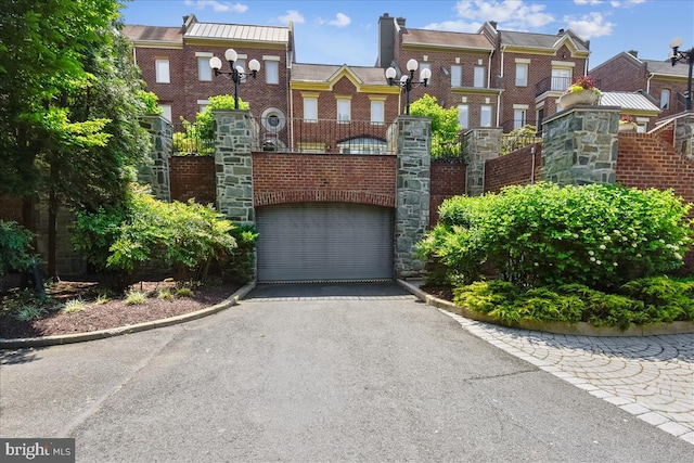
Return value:
<svg viewBox="0 0 694 463">
<path fill-rule="evenodd" d="M 389 124 L 370 120 L 258 119 L 264 151 L 281 153 L 394 154 Z"/>
</svg>

